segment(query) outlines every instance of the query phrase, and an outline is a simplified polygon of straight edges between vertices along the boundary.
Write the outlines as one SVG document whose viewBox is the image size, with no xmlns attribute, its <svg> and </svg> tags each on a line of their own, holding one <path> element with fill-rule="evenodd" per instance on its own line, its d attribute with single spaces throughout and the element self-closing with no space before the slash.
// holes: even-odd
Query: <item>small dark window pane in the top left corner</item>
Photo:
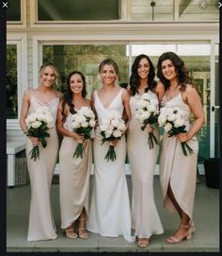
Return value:
<svg viewBox="0 0 222 256">
<path fill-rule="evenodd" d="M 21 19 L 21 0 L 8 0 L 7 21 L 20 22 Z"/>
</svg>

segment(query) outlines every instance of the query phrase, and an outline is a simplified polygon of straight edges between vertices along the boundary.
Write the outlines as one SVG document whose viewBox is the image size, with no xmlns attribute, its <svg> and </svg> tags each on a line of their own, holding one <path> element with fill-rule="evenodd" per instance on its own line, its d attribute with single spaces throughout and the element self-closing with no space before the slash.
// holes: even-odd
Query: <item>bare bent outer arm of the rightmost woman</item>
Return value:
<svg viewBox="0 0 222 256">
<path fill-rule="evenodd" d="M 201 99 L 194 87 L 187 85 L 185 92 L 182 94 L 182 99 L 189 105 L 191 112 L 196 117 L 193 126 L 186 133 L 180 133 L 176 136 L 180 142 L 187 142 L 197 134 L 198 130 L 203 126 L 205 117 Z"/>
</svg>

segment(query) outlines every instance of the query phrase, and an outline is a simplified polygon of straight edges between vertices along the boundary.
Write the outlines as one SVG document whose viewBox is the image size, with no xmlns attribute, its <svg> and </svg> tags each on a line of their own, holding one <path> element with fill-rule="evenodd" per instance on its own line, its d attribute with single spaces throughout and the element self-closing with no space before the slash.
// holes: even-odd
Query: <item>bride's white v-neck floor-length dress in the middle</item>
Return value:
<svg viewBox="0 0 222 256">
<path fill-rule="evenodd" d="M 103 107 L 97 92 L 95 92 L 95 109 L 99 124 L 110 111 L 123 112 L 121 94 L 115 96 L 107 108 Z M 109 143 L 102 145 L 100 128 L 96 128 L 93 142 L 94 153 L 94 184 L 89 207 L 87 230 L 102 236 L 118 237 L 123 235 L 129 242 L 135 241 L 131 236 L 130 201 L 125 177 L 126 141 L 123 136 L 115 146 L 117 159 L 107 162 L 104 157 Z"/>
</svg>

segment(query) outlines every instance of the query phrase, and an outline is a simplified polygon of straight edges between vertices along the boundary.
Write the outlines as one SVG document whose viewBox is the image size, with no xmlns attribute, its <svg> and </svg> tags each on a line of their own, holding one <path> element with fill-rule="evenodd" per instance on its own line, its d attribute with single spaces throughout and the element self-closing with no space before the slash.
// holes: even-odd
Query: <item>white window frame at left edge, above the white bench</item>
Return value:
<svg viewBox="0 0 222 256">
<path fill-rule="evenodd" d="M 7 44 L 17 45 L 17 94 L 18 94 L 18 118 L 7 119 L 7 129 L 20 129 L 19 118 L 22 107 L 22 99 L 27 86 L 27 36 L 26 34 L 8 34 Z"/>
</svg>

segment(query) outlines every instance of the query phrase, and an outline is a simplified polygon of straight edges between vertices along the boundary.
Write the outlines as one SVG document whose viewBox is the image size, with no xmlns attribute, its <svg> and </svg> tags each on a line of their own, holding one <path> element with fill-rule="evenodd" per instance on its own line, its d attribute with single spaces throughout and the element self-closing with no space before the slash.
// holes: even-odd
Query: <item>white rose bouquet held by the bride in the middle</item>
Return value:
<svg viewBox="0 0 222 256">
<path fill-rule="evenodd" d="M 107 118 L 102 120 L 100 129 L 103 136 L 103 145 L 103 143 L 107 141 L 110 142 L 113 140 L 120 140 L 121 136 L 126 131 L 126 126 L 119 111 L 112 111 Z M 106 153 L 104 159 L 106 159 L 107 162 L 109 160 L 114 161 L 117 159 L 114 145 L 109 145 L 108 152 Z"/>
</svg>

